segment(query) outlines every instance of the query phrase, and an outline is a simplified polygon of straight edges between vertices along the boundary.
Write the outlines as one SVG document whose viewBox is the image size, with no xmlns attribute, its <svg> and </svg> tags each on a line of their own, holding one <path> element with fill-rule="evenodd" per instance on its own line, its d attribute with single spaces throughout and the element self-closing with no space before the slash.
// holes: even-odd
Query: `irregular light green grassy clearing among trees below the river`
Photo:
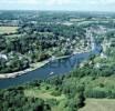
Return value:
<svg viewBox="0 0 115 111">
<path fill-rule="evenodd" d="M 66 97 L 64 94 L 61 95 L 53 95 L 52 92 L 55 91 L 54 88 L 50 87 L 49 90 L 46 90 L 48 84 L 42 84 L 41 88 L 30 88 L 24 90 L 24 95 L 25 97 L 34 97 L 34 98 L 40 98 L 44 101 L 46 100 L 55 100 L 58 101 L 58 104 L 52 105 L 52 111 L 69 111 L 64 108 L 66 103 Z"/>
</svg>

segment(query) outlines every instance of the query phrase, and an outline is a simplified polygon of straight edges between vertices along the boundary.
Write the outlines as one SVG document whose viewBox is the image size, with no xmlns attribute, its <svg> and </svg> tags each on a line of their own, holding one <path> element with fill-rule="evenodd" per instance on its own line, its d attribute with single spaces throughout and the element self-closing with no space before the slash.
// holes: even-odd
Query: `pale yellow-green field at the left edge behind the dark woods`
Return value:
<svg viewBox="0 0 115 111">
<path fill-rule="evenodd" d="M 17 29 L 18 27 L 0 27 L 0 33 L 13 33 Z"/>
</svg>

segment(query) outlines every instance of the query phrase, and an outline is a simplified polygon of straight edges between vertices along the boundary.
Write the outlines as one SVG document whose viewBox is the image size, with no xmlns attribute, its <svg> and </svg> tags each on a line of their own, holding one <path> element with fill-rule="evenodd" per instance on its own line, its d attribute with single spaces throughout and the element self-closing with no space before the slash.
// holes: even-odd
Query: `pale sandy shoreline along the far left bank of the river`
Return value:
<svg viewBox="0 0 115 111">
<path fill-rule="evenodd" d="M 22 70 L 22 71 L 18 71 L 18 72 L 11 72 L 11 73 L 1 73 L 0 74 L 0 80 L 2 79 L 10 79 L 10 78 L 17 78 L 19 75 L 25 74 L 28 72 L 34 71 L 39 68 L 44 67 L 46 63 L 54 61 L 54 60 L 60 60 L 60 59 L 65 59 L 65 58 L 70 58 L 72 56 L 79 54 L 79 53 L 85 53 L 85 52 L 90 52 L 90 51 L 81 51 L 81 52 L 73 52 L 70 56 L 62 56 L 62 57 L 54 57 L 54 58 L 50 58 L 48 60 L 41 61 L 41 62 L 36 62 L 36 63 L 31 63 L 30 68 Z"/>
</svg>

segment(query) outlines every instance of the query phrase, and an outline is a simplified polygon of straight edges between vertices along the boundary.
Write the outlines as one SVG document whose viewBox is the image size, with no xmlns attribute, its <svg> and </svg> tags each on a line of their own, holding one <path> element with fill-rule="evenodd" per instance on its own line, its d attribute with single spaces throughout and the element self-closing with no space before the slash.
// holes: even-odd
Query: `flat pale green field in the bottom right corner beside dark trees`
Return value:
<svg viewBox="0 0 115 111">
<path fill-rule="evenodd" d="M 114 99 L 87 99 L 86 105 L 79 111 L 115 111 Z"/>
</svg>

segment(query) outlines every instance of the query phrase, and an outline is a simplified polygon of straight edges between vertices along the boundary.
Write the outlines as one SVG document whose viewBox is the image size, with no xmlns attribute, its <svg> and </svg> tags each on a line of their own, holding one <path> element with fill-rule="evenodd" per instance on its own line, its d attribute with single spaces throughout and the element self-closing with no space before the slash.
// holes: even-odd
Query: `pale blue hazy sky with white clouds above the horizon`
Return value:
<svg viewBox="0 0 115 111">
<path fill-rule="evenodd" d="M 115 0 L 0 0 L 0 10 L 115 11 Z"/>
</svg>

